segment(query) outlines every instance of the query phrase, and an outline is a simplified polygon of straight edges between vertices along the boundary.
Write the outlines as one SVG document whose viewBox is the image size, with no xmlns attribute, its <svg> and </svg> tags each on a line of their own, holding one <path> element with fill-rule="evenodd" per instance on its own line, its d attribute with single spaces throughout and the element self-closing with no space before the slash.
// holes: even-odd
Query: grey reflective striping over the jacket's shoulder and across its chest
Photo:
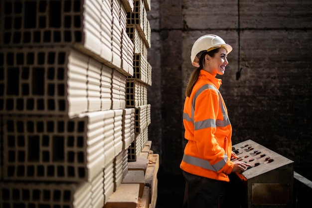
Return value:
<svg viewBox="0 0 312 208">
<path fill-rule="evenodd" d="M 217 119 L 216 121 L 213 121 L 212 119 L 207 119 L 207 120 L 204 120 L 204 121 L 198 121 L 198 122 L 194 123 L 194 111 L 195 111 L 196 98 L 200 95 L 200 93 L 202 93 L 206 89 L 213 89 L 218 94 L 218 96 L 219 96 L 219 106 L 221 108 L 221 112 L 222 112 L 222 115 L 223 115 L 223 120 L 218 120 Z M 193 97 L 191 116 L 189 117 L 189 115 L 187 113 L 183 113 L 183 119 L 185 119 L 186 121 L 192 122 L 194 127 L 195 127 L 195 130 L 209 128 L 209 127 L 214 127 L 214 128 L 216 128 L 216 127 L 226 127 L 227 125 L 229 125 L 231 123 L 230 123 L 229 117 L 226 114 L 225 106 L 223 105 L 222 100 L 223 99 L 221 97 L 221 94 L 220 94 L 219 90 L 215 86 L 213 86 L 211 84 L 205 84 L 205 85 L 203 85 L 202 87 L 200 87 L 197 90 L 197 92 L 195 93 L 195 95 Z"/>
</svg>

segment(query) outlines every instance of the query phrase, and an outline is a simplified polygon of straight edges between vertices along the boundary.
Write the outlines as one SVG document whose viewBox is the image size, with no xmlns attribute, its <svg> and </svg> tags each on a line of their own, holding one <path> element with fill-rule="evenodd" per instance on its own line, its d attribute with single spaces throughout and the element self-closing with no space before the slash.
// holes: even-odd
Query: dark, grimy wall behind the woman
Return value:
<svg viewBox="0 0 312 208">
<path fill-rule="evenodd" d="M 215 33 L 233 46 L 220 88 L 234 144 L 247 139 L 293 160 L 312 179 L 312 2 L 152 0 L 149 103 L 158 174 L 180 174 L 190 49 Z"/>
</svg>

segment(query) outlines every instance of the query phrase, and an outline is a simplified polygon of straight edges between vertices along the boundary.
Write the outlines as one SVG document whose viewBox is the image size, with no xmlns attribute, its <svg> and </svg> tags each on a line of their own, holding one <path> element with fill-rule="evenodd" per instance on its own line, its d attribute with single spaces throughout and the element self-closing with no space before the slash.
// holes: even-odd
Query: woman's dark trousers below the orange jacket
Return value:
<svg viewBox="0 0 312 208">
<path fill-rule="evenodd" d="M 226 208 L 228 182 L 189 174 L 185 171 L 183 208 Z"/>
</svg>

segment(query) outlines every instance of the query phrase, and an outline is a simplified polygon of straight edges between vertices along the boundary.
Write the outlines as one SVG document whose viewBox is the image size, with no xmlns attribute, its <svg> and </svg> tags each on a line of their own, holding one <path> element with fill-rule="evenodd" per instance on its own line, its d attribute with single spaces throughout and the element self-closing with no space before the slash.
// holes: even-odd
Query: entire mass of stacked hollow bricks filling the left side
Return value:
<svg viewBox="0 0 312 208">
<path fill-rule="evenodd" d="M 148 0 L 0 1 L 0 207 L 155 208 L 149 9 Z M 127 182 L 140 160 L 143 187 Z M 128 185 L 138 195 L 114 201 Z"/>
</svg>

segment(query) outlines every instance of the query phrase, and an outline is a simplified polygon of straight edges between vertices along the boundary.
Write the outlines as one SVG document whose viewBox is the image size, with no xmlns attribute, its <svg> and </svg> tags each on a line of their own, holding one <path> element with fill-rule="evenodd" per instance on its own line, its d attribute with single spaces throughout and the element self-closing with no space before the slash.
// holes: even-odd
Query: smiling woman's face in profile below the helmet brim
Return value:
<svg viewBox="0 0 312 208">
<path fill-rule="evenodd" d="M 215 53 L 214 57 L 206 55 L 207 66 L 209 67 L 209 72 L 212 75 L 223 75 L 225 71 L 225 66 L 229 63 L 226 59 L 227 52 L 225 48 L 220 48 L 217 53 Z M 208 58 L 208 60 L 207 60 Z"/>
</svg>

